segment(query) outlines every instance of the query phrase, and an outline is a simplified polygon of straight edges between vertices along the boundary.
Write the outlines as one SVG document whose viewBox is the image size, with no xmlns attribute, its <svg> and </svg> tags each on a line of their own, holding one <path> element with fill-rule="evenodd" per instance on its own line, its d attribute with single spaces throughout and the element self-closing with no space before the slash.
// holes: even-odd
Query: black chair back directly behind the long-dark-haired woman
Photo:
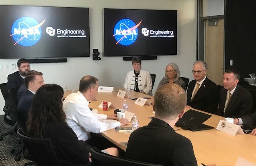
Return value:
<svg viewBox="0 0 256 166">
<path fill-rule="evenodd" d="M 23 140 L 29 153 L 35 158 L 38 166 L 60 166 L 49 138 L 28 136 L 21 129 L 17 130 L 17 134 Z"/>
</svg>

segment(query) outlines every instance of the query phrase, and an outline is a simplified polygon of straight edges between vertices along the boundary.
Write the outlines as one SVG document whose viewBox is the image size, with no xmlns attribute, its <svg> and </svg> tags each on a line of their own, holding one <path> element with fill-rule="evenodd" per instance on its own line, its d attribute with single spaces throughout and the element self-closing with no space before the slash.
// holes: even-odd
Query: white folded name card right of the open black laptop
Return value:
<svg viewBox="0 0 256 166">
<path fill-rule="evenodd" d="M 225 132 L 227 134 L 230 134 L 232 136 L 235 136 L 236 133 L 244 134 L 241 126 L 237 124 L 229 123 L 225 120 L 220 120 L 216 129 L 219 131 Z"/>
</svg>

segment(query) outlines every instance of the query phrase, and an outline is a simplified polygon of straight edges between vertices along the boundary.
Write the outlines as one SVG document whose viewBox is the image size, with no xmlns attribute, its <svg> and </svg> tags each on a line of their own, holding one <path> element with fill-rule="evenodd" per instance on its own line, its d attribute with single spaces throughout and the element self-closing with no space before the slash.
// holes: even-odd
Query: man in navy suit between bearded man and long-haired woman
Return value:
<svg viewBox="0 0 256 166">
<path fill-rule="evenodd" d="M 18 102 L 17 115 L 25 126 L 27 122 L 27 112 L 29 111 L 30 105 L 33 102 L 33 98 L 37 90 L 44 85 L 43 74 L 35 70 L 31 70 L 27 73 L 24 79 L 27 86 L 27 91 L 23 94 Z"/>
</svg>

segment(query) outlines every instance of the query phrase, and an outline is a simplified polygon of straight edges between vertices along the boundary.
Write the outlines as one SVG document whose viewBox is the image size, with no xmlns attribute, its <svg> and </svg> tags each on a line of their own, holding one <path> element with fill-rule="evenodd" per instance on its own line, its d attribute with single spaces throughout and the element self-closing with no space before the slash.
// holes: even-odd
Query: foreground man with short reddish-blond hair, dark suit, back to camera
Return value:
<svg viewBox="0 0 256 166">
<path fill-rule="evenodd" d="M 156 90 L 155 117 L 147 126 L 133 131 L 125 157 L 164 166 L 197 166 L 190 140 L 173 127 L 184 114 L 186 92 L 178 84 L 164 84 Z"/>
</svg>

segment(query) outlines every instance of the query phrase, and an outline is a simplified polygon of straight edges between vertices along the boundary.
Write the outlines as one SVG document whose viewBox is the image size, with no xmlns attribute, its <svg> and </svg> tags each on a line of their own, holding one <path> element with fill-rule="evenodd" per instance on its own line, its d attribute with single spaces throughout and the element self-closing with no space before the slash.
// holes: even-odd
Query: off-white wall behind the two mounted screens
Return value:
<svg viewBox="0 0 256 166">
<path fill-rule="evenodd" d="M 31 64 L 31 70 L 43 72 L 45 83 L 67 84 L 68 89 L 78 88 L 82 76 L 92 75 L 101 86 L 122 87 L 127 71 L 132 70 L 130 61 L 122 57 L 102 57 L 103 8 L 165 9 L 178 10 L 177 55 L 158 56 L 157 60 L 143 60 L 142 68 L 156 74 L 153 94 L 164 76 L 169 62 L 175 62 L 181 76 L 193 79 L 191 72 L 196 60 L 197 1 L 196 0 L 0 0 L 1 5 L 89 7 L 90 9 L 90 52 L 86 58 L 68 58 L 67 63 Z M 98 48 L 101 60 L 92 60 L 92 49 Z M 0 59 L 0 64 L 16 64 L 18 59 Z M 0 70 L 0 83 L 7 82 L 12 69 Z M 4 99 L 0 95 L 0 114 L 4 114 Z"/>
</svg>

